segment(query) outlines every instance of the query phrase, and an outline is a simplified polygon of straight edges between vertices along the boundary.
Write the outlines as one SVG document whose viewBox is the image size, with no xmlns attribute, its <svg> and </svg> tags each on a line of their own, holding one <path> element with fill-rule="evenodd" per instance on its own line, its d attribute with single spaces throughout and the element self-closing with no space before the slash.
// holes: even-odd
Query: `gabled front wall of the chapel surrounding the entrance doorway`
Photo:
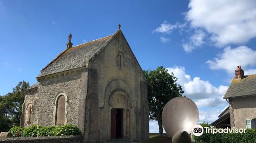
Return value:
<svg viewBox="0 0 256 143">
<path fill-rule="evenodd" d="M 141 68 L 121 32 L 116 34 L 116 37 L 89 63 L 89 68 L 96 69 L 98 75 L 99 141 L 110 141 L 112 108 L 110 97 L 116 90 L 123 94 L 127 93 L 127 98 L 129 97 L 128 100 L 131 102 L 130 110 L 124 112 L 125 117 L 130 116 L 129 122 L 123 122 L 124 137 L 132 141 L 147 138 L 146 85 Z"/>
</svg>

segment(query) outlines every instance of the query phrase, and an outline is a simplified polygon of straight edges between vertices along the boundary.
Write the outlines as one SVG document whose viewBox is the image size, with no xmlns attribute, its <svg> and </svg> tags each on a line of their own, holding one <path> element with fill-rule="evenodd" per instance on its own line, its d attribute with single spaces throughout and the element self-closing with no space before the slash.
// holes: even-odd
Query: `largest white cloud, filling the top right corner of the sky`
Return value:
<svg viewBox="0 0 256 143">
<path fill-rule="evenodd" d="M 212 34 L 218 46 L 244 43 L 256 36 L 256 1 L 191 0 L 185 19 Z"/>
</svg>

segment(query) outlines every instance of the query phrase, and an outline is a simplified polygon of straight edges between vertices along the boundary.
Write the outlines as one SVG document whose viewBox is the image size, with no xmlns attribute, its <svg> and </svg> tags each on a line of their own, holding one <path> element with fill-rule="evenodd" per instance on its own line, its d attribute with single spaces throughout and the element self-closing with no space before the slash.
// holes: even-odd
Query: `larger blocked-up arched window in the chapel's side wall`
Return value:
<svg viewBox="0 0 256 143">
<path fill-rule="evenodd" d="M 65 114 L 66 114 L 66 99 L 65 96 L 60 95 L 56 102 L 56 120 L 55 125 L 65 124 Z"/>
</svg>

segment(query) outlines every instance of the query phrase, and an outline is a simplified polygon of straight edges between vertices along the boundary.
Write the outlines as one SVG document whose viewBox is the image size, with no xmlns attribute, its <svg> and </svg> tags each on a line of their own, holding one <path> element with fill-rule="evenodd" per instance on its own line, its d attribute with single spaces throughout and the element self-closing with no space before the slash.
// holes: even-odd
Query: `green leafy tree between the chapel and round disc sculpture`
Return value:
<svg viewBox="0 0 256 143">
<path fill-rule="evenodd" d="M 157 67 L 156 70 L 144 70 L 150 120 L 158 122 L 160 136 L 163 135 L 162 111 L 165 104 L 184 93 L 181 85 L 176 83 L 174 74 L 167 71 L 163 66 Z"/>
</svg>

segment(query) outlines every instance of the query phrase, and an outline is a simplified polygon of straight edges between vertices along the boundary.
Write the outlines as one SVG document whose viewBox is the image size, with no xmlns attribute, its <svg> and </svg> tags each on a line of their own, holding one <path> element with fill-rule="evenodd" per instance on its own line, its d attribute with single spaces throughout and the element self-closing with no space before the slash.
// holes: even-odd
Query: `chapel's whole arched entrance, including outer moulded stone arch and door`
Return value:
<svg viewBox="0 0 256 143">
<path fill-rule="evenodd" d="M 109 99 L 111 107 L 110 138 L 131 138 L 131 108 L 132 102 L 129 94 L 122 89 L 112 92 Z"/>
</svg>

